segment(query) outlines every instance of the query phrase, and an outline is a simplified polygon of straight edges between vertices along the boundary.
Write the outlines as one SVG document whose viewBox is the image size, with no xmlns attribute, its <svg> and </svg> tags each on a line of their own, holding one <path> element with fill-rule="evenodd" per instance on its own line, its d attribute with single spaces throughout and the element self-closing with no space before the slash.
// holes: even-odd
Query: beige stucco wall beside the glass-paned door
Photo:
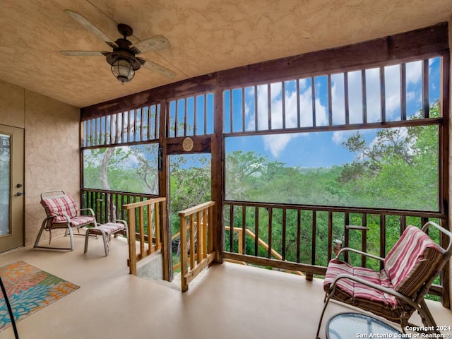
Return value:
<svg viewBox="0 0 452 339">
<path fill-rule="evenodd" d="M 42 191 L 79 197 L 79 119 L 76 107 L 0 81 L 0 124 L 25 129 L 25 245 L 35 242 L 45 218 Z"/>
</svg>

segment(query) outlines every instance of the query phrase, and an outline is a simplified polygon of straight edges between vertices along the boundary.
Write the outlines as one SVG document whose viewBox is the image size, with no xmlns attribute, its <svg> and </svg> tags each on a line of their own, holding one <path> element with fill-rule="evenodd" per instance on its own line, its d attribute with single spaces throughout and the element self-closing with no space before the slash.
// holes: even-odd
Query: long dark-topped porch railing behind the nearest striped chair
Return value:
<svg viewBox="0 0 452 339">
<path fill-rule="evenodd" d="M 324 275 L 338 246 L 350 246 L 385 257 L 407 225 L 429 220 L 447 225 L 441 213 L 371 208 L 338 208 L 275 203 L 224 203 L 226 246 L 223 258 L 259 266 L 299 270 L 307 279 Z M 237 237 L 237 230 L 238 232 Z M 254 237 L 246 237 L 252 232 Z M 391 237 L 388 235 L 391 234 Z M 439 237 L 439 234 L 430 234 Z M 442 239 L 439 239 L 441 242 Z M 262 242 L 268 244 L 263 249 Z M 280 257 L 275 256 L 275 251 Z M 350 258 L 355 266 L 379 263 Z M 430 292 L 448 296 L 448 275 Z M 448 297 L 444 297 L 446 302 Z"/>
</svg>

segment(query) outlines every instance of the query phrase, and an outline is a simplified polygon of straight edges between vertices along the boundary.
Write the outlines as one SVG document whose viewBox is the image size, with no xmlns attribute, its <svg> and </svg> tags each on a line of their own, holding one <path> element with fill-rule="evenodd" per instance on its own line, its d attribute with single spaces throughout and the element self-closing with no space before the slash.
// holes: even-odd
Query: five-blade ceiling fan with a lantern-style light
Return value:
<svg viewBox="0 0 452 339">
<path fill-rule="evenodd" d="M 174 78 L 176 76 L 176 73 L 170 69 L 160 66 L 159 64 L 155 64 L 153 61 L 136 57 L 136 54 L 169 47 L 169 41 L 163 35 L 150 37 L 149 39 L 141 40 L 136 44 L 132 44 L 129 40 L 127 40 L 127 37 L 133 35 L 132 28 L 125 23 L 119 23 L 119 25 L 117 25 L 118 32 L 123 37 L 113 41 L 81 14 L 69 9 L 65 9 L 64 12 L 71 16 L 71 18 L 78 21 L 78 23 L 83 25 L 85 28 L 88 28 L 88 30 L 95 33 L 97 37 L 100 37 L 100 39 L 108 44 L 109 47 L 112 47 L 113 52 L 59 51 L 61 54 L 69 57 L 104 56 L 110 66 L 112 66 L 113 75 L 121 81 L 122 84 L 131 81 L 133 76 L 135 76 L 135 71 L 140 69 L 141 66 L 145 66 L 148 69 L 162 73 L 162 75 L 167 76 L 168 78 Z"/>
</svg>

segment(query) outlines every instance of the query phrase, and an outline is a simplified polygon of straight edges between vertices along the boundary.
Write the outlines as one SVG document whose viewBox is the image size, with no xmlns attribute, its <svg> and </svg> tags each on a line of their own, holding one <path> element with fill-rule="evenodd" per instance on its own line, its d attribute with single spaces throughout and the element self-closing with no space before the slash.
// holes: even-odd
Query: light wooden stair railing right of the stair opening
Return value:
<svg viewBox="0 0 452 339">
<path fill-rule="evenodd" d="M 182 292 L 189 289 L 191 280 L 215 258 L 213 206 L 215 202 L 209 201 L 179 212 Z"/>
</svg>

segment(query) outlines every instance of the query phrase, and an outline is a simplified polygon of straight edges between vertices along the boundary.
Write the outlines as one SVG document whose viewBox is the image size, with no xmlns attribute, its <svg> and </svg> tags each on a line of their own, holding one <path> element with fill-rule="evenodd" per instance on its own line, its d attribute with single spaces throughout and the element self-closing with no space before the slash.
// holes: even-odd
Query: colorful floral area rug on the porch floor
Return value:
<svg viewBox="0 0 452 339">
<path fill-rule="evenodd" d="M 0 267 L 0 276 L 16 322 L 79 288 L 24 261 Z M 0 331 L 8 326 L 11 319 L 0 290 Z"/>
</svg>

